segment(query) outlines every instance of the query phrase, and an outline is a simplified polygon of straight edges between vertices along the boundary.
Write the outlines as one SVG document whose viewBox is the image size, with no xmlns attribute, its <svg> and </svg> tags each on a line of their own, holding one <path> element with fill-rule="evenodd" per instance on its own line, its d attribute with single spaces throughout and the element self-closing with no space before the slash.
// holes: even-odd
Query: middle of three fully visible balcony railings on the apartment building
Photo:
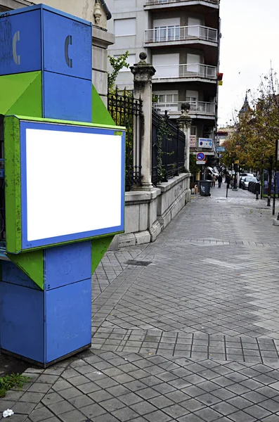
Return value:
<svg viewBox="0 0 279 422">
<path fill-rule="evenodd" d="M 216 79 L 215 66 L 201 65 L 200 63 L 186 65 L 155 66 L 156 73 L 153 79 L 164 78 L 205 78 Z"/>
</svg>

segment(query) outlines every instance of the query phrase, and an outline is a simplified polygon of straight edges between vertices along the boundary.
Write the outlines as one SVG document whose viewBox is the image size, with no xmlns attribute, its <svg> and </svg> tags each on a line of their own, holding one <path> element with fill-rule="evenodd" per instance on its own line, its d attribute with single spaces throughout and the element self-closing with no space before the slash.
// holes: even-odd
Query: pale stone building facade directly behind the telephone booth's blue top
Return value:
<svg viewBox="0 0 279 422">
<path fill-rule="evenodd" d="M 0 0 L 0 12 L 44 3 L 65 13 L 89 20 L 92 28 L 92 82 L 103 102 L 108 93 L 108 46 L 115 37 L 107 30 L 107 20 L 111 18 L 105 0 Z"/>
</svg>

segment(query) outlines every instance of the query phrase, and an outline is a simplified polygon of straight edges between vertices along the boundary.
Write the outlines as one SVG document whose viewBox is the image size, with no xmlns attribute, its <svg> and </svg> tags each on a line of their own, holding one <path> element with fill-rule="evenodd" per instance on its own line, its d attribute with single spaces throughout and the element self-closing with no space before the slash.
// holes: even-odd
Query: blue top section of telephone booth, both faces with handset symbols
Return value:
<svg viewBox="0 0 279 422">
<path fill-rule="evenodd" d="M 48 70 L 91 80 L 91 23 L 43 4 L 0 13 L 0 75 Z"/>
</svg>

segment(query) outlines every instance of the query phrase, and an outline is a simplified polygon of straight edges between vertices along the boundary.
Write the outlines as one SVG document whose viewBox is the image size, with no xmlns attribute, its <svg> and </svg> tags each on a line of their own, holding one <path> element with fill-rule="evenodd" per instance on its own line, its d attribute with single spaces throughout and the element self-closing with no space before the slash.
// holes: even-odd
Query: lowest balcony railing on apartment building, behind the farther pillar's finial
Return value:
<svg viewBox="0 0 279 422">
<path fill-rule="evenodd" d="M 174 103 L 154 103 L 153 107 L 158 113 L 169 111 L 169 115 L 177 115 L 181 112 L 181 104 L 185 101 L 176 101 Z M 191 101 L 189 114 L 215 115 L 215 103 L 205 103 L 204 101 Z"/>
</svg>

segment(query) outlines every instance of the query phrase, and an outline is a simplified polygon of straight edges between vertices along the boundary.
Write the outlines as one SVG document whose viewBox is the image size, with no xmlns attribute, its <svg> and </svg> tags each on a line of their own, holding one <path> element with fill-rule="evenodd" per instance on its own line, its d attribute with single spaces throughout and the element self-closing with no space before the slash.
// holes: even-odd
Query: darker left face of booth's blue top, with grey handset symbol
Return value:
<svg viewBox="0 0 279 422">
<path fill-rule="evenodd" d="M 41 11 L 24 10 L 0 14 L 0 75 L 41 70 Z"/>
</svg>

